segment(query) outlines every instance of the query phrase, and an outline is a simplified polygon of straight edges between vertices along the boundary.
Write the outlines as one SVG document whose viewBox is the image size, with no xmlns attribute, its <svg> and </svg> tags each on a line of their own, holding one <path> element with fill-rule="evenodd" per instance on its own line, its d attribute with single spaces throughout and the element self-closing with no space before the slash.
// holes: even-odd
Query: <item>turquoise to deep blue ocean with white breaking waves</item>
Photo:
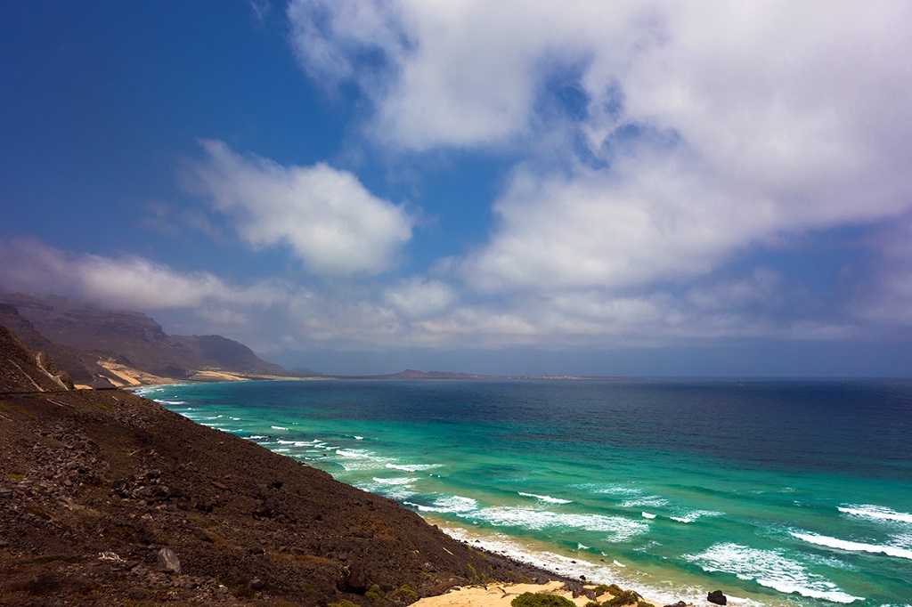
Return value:
<svg viewBox="0 0 912 607">
<path fill-rule="evenodd" d="M 320 380 L 139 393 L 461 540 L 648 598 L 912 605 L 912 381 Z"/>
</svg>

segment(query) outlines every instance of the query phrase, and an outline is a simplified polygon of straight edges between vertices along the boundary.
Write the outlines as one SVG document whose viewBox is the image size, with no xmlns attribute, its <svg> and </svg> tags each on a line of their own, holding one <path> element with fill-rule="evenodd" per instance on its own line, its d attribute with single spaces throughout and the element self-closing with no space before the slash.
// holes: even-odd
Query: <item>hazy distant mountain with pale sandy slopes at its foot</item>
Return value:
<svg viewBox="0 0 912 607">
<path fill-rule="evenodd" d="M 140 312 L 23 293 L 0 293 L 0 324 L 50 352 L 78 385 L 125 386 L 233 376 L 292 376 L 221 335 L 169 335 Z"/>
</svg>

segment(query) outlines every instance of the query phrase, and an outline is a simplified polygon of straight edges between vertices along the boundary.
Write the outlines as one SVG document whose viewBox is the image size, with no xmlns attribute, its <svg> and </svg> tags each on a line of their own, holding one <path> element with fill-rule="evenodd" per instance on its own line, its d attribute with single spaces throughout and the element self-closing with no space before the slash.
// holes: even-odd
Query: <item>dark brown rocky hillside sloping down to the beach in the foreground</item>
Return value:
<svg viewBox="0 0 912 607">
<path fill-rule="evenodd" d="M 546 575 L 38 358 L 0 331 L 0 604 L 377 607 Z"/>
</svg>

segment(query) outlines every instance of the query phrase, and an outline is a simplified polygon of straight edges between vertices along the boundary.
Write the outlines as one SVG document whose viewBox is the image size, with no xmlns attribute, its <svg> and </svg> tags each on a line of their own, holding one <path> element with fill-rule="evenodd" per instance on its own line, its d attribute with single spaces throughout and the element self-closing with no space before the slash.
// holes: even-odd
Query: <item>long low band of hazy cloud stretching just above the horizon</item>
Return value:
<svg viewBox="0 0 912 607">
<path fill-rule="evenodd" d="M 391 284 L 337 283 L 312 290 L 280 278 L 232 283 L 130 256 L 73 254 L 42 242 L 0 242 L 0 284 L 145 311 L 171 332 L 227 334 L 258 352 L 378 351 L 407 347 L 503 348 L 679 344 L 683 340 L 864 337 L 872 317 L 910 324 L 907 274 L 872 278 L 854 312 L 821 306 L 780 274 L 755 268 L 682 290 L 613 293 L 564 289 L 464 299 L 449 283 L 413 276 Z M 190 315 L 188 315 L 190 314 Z"/>
</svg>

